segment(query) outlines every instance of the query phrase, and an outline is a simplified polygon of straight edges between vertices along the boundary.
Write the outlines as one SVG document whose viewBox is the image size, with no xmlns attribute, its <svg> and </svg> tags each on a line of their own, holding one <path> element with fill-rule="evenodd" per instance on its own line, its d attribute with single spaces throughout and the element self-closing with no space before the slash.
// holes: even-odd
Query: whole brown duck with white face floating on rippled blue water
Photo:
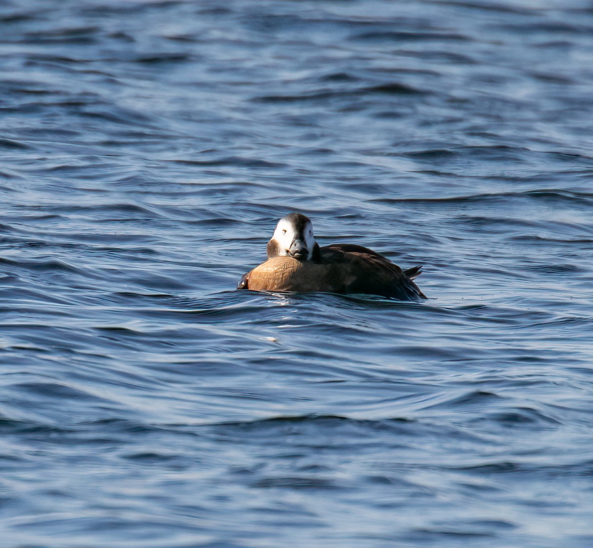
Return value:
<svg viewBox="0 0 593 548">
<path fill-rule="evenodd" d="M 278 221 L 266 253 L 267 260 L 244 274 L 237 289 L 356 293 L 402 301 L 427 298 L 414 282 L 422 266 L 402 270 L 377 251 L 357 244 L 320 247 L 311 219 L 301 213 Z"/>
</svg>

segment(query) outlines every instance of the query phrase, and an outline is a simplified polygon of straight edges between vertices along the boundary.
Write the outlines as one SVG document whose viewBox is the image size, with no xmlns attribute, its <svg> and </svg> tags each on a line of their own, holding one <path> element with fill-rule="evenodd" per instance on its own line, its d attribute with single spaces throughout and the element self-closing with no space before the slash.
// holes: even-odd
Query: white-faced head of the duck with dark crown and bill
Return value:
<svg viewBox="0 0 593 548">
<path fill-rule="evenodd" d="M 313 235 L 311 219 L 300 213 L 282 217 L 267 243 L 267 258 L 288 256 L 299 261 L 318 260 L 319 246 Z"/>
</svg>

